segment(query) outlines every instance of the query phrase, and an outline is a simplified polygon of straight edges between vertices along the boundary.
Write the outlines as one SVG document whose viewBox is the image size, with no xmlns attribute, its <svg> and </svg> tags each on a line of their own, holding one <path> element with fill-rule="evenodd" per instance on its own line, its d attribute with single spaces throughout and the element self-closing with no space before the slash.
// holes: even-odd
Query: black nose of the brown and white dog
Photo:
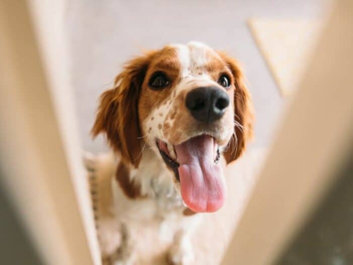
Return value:
<svg viewBox="0 0 353 265">
<path fill-rule="evenodd" d="M 217 87 L 198 87 L 186 95 L 186 107 L 200 122 L 220 119 L 228 105 L 229 96 Z"/>
</svg>

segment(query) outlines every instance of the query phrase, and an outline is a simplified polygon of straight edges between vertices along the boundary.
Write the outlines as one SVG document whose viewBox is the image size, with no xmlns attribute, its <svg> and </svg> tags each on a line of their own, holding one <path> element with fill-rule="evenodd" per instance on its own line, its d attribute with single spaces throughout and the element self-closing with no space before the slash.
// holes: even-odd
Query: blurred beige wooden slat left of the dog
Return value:
<svg viewBox="0 0 353 265">
<path fill-rule="evenodd" d="M 0 162 L 45 263 L 99 264 L 63 15 L 64 1 L 0 2 Z"/>
</svg>

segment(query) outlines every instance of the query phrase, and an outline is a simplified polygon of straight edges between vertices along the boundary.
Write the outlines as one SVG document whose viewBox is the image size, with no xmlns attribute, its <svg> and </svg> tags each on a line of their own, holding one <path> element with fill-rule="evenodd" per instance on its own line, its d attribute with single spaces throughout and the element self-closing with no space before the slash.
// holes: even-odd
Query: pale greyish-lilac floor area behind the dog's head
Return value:
<svg viewBox="0 0 353 265">
<path fill-rule="evenodd" d="M 103 138 L 92 141 L 89 131 L 97 98 L 111 87 L 122 64 L 142 50 L 190 40 L 228 51 L 242 62 L 257 119 L 252 147 L 268 146 L 284 104 L 247 20 L 318 17 L 328 1 L 68 1 L 71 78 L 83 148 L 107 149 Z"/>
</svg>

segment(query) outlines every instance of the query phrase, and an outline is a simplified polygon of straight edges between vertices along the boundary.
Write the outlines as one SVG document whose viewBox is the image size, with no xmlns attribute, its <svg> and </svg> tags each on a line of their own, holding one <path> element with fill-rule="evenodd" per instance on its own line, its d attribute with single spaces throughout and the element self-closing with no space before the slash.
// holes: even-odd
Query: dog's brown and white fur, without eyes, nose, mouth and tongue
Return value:
<svg viewBox="0 0 353 265">
<path fill-rule="evenodd" d="M 168 76 L 170 84 L 151 89 L 149 80 L 158 71 Z M 229 77 L 230 89 L 217 84 L 223 74 Z M 223 52 L 191 42 L 167 45 L 135 58 L 117 75 L 114 84 L 101 96 L 92 129 L 94 136 L 104 133 L 121 157 L 113 180 L 111 216 L 102 221 L 107 223 L 105 227 L 117 227 L 120 233 L 99 231 L 102 255 L 112 263 L 133 264 L 131 224 L 159 220 L 162 234 L 166 236 L 168 231 L 173 237 L 170 261 L 193 263 L 189 239 L 202 214 L 195 214 L 183 202 L 180 184 L 163 162 L 156 139 L 170 147 L 208 134 L 222 147 L 222 164 L 236 160 L 251 137 L 253 120 L 242 71 Z M 200 86 L 224 89 L 231 99 L 223 117 L 207 128 L 200 126 L 185 107 L 186 94 Z"/>
</svg>

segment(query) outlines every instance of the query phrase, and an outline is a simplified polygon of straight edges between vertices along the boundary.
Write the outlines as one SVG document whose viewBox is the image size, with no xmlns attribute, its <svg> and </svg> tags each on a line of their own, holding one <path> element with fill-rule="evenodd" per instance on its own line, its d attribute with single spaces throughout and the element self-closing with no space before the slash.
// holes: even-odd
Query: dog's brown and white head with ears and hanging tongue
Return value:
<svg viewBox="0 0 353 265">
<path fill-rule="evenodd" d="M 143 149 L 153 149 L 180 182 L 185 203 L 214 211 L 225 193 L 219 156 L 230 163 L 244 151 L 251 100 L 234 59 L 197 42 L 167 45 L 126 64 L 102 94 L 92 132 L 104 132 L 135 168 Z"/>
</svg>

